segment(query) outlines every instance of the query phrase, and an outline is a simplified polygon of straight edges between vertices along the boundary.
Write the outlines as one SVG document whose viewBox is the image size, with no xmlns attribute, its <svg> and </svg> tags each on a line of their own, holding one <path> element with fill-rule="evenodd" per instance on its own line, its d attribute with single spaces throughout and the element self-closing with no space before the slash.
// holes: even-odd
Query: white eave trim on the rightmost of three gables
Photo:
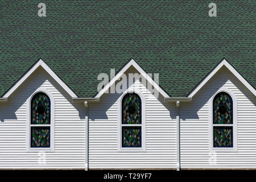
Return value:
<svg viewBox="0 0 256 182">
<path fill-rule="evenodd" d="M 209 73 L 209 75 L 207 77 L 204 78 L 203 81 L 200 82 L 199 85 L 196 86 L 196 88 L 193 89 L 193 91 L 188 95 L 188 97 L 193 97 L 195 96 L 195 94 L 210 80 L 210 78 L 212 78 L 215 73 L 217 71 L 219 71 L 222 67 L 226 67 L 229 69 L 230 72 L 232 72 L 234 74 L 234 76 L 236 76 L 238 78 L 238 80 L 240 80 L 242 82 L 243 85 L 246 86 L 247 89 L 249 89 L 253 94 L 254 96 L 256 96 L 256 90 L 253 88 L 253 86 L 251 86 L 249 84 L 248 81 L 245 80 L 245 78 L 242 77 L 242 75 L 240 73 L 238 73 L 236 71 L 236 69 L 228 62 L 226 61 L 225 59 L 223 59 L 218 65 L 216 68 L 213 69 L 212 72 Z"/>
</svg>

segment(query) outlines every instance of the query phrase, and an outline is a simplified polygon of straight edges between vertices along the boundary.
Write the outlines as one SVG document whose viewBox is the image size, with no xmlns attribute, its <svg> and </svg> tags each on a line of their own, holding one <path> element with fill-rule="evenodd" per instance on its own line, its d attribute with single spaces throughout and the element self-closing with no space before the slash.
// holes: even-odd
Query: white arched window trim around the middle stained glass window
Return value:
<svg viewBox="0 0 256 182">
<path fill-rule="evenodd" d="M 127 93 L 136 93 L 141 98 L 141 104 L 142 104 L 142 147 L 122 147 L 122 99 L 123 96 Z M 117 144 L 117 151 L 118 152 L 146 152 L 146 100 L 141 92 L 135 88 L 129 88 L 126 90 L 125 93 L 123 93 L 118 98 L 118 120 L 117 120 L 117 129 L 118 129 L 118 144 Z M 138 125 L 129 125 L 129 126 L 138 126 Z"/>
</svg>

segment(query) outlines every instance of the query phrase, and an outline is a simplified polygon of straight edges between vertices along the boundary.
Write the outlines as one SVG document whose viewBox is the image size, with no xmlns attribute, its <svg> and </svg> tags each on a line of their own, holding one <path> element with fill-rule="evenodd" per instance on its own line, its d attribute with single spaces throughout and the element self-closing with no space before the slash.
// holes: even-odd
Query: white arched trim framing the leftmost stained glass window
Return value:
<svg viewBox="0 0 256 182">
<path fill-rule="evenodd" d="M 51 131 L 50 131 L 50 147 L 49 148 L 31 148 L 30 143 L 31 143 L 31 114 L 30 114 L 30 110 L 31 110 L 31 99 L 32 97 L 38 93 L 38 92 L 43 92 L 45 94 L 47 94 L 47 96 L 49 97 L 50 101 L 51 101 L 51 125 L 38 125 L 38 126 L 50 126 L 51 127 Z M 35 151 L 46 151 L 46 152 L 53 152 L 55 150 L 55 100 L 51 94 L 51 92 L 49 92 L 49 90 L 47 90 L 46 88 L 38 88 L 36 89 L 36 91 L 31 94 L 30 97 L 28 97 L 27 99 L 27 146 L 26 146 L 26 150 L 28 152 L 35 152 Z"/>
</svg>

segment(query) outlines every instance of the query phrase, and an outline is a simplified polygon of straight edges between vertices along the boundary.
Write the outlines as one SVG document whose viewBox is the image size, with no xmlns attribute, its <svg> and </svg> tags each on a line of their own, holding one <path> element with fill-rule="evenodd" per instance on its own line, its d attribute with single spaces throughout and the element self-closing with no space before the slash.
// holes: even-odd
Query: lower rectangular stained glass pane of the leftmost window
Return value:
<svg viewBox="0 0 256 182">
<path fill-rule="evenodd" d="M 50 147 L 50 127 L 31 127 L 31 147 Z"/>
</svg>

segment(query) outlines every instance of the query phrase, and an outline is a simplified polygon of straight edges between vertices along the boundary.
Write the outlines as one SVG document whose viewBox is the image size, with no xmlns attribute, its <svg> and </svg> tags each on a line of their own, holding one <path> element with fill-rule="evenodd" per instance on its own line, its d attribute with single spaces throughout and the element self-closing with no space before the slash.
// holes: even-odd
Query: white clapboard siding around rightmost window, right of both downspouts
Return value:
<svg viewBox="0 0 256 182">
<path fill-rule="evenodd" d="M 209 152 L 209 98 L 222 86 L 237 98 L 237 152 Z M 191 103 L 180 107 L 182 168 L 256 168 L 256 98 L 226 68 L 212 77 Z M 214 158 L 214 159 L 213 159 Z M 210 161 L 216 163 L 210 164 Z"/>
</svg>

